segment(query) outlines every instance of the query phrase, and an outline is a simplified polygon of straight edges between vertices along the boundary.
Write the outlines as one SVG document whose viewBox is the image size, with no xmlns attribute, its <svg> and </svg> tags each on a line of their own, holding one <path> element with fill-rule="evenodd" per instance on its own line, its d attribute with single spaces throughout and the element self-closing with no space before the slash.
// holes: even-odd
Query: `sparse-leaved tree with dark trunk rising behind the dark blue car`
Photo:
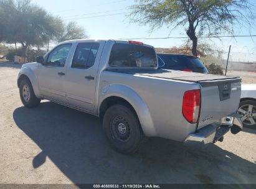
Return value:
<svg viewBox="0 0 256 189">
<path fill-rule="evenodd" d="M 164 24 L 184 27 L 192 40 L 192 54 L 197 55 L 197 40 L 201 35 L 234 34 L 234 25 L 251 26 L 254 4 L 249 0 L 136 0 L 131 6 L 131 22 L 151 26 Z"/>
</svg>

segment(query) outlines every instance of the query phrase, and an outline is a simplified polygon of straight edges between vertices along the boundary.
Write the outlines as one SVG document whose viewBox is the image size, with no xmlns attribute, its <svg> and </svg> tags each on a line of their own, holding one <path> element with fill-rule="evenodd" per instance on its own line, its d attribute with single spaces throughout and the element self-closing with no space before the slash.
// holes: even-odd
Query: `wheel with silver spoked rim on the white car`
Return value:
<svg viewBox="0 0 256 189">
<path fill-rule="evenodd" d="M 244 116 L 241 118 L 244 127 L 256 129 L 256 100 L 240 101 L 237 113 Z"/>
</svg>

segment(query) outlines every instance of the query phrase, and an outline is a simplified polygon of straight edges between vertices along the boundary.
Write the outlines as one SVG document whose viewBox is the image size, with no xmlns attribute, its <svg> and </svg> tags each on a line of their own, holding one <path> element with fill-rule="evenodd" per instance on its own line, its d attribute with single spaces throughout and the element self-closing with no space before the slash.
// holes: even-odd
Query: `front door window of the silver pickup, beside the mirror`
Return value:
<svg viewBox="0 0 256 189">
<path fill-rule="evenodd" d="M 57 67 L 64 67 L 71 47 L 72 44 L 64 44 L 54 48 L 48 56 L 47 63 Z"/>
</svg>

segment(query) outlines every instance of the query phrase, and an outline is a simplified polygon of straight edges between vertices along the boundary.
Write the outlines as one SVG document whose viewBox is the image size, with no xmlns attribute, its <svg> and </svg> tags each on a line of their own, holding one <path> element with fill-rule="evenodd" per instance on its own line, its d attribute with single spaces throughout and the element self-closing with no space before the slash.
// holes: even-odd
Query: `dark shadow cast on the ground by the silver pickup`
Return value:
<svg viewBox="0 0 256 189">
<path fill-rule="evenodd" d="M 50 102 L 17 108 L 17 126 L 39 145 L 34 168 L 46 156 L 73 183 L 255 183 L 256 165 L 217 145 L 193 149 L 148 139 L 135 155 L 118 154 L 97 117 Z"/>
</svg>

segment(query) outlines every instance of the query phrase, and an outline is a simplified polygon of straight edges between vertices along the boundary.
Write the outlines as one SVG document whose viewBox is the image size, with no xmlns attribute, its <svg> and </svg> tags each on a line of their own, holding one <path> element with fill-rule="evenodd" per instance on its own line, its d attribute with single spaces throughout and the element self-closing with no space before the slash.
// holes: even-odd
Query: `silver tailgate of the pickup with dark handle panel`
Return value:
<svg viewBox="0 0 256 189">
<path fill-rule="evenodd" d="M 201 86 L 201 114 L 198 129 L 237 111 L 241 95 L 240 79 L 199 81 L 198 83 Z"/>
</svg>

